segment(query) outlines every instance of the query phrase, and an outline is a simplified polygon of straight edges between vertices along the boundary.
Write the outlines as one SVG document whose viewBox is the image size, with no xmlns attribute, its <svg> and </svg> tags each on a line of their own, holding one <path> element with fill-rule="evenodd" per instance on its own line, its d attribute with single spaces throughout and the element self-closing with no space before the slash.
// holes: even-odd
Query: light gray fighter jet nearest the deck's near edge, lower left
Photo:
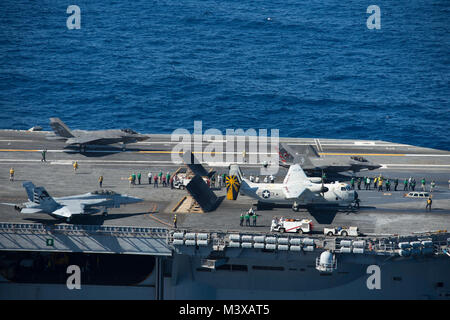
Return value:
<svg viewBox="0 0 450 320">
<path fill-rule="evenodd" d="M 119 208 L 120 205 L 137 203 L 142 199 L 121 195 L 109 190 L 98 190 L 85 194 L 52 198 L 44 187 L 36 187 L 32 182 L 26 181 L 23 187 L 28 194 L 28 202 L 22 206 L 14 205 L 20 213 L 46 213 L 59 218 L 66 218 L 67 222 L 75 215 L 92 214 L 103 208 L 103 215 L 107 214 L 107 208 Z"/>
</svg>

